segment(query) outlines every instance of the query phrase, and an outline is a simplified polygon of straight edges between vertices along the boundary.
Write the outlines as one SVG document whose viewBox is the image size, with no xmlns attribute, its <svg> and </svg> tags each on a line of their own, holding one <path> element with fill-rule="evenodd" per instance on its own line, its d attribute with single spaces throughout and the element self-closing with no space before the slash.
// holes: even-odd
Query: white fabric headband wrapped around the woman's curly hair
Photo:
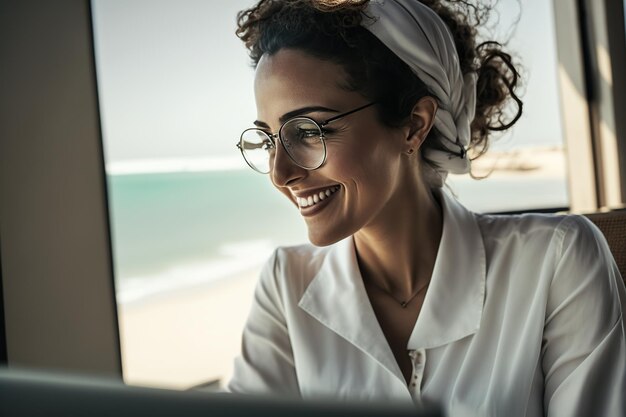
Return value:
<svg viewBox="0 0 626 417">
<path fill-rule="evenodd" d="M 476 74 L 461 73 L 450 30 L 418 0 L 370 0 L 362 25 L 404 61 L 439 100 L 435 128 L 449 152 L 427 149 L 437 163 L 443 185 L 448 172 L 466 174 L 470 160 L 470 124 L 476 111 Z"/>
</svg>

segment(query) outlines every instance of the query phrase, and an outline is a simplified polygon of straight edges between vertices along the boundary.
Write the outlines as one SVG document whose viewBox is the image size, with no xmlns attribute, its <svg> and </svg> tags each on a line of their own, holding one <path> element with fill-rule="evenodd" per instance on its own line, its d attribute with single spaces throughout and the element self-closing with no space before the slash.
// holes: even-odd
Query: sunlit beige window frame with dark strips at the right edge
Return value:
<svg viewBox="0 0 626 417">
<path fill-rule="evenodd" d="M 553 0 L 570 211 L 625 207 L 624 10 L 611 0 Z M 610 36 L 612 35 L 612 36 Z M 594 45 L 602 45 L 603 52 Z M 612 84 L 607 82 L 612 79 Z"/>
</svg>

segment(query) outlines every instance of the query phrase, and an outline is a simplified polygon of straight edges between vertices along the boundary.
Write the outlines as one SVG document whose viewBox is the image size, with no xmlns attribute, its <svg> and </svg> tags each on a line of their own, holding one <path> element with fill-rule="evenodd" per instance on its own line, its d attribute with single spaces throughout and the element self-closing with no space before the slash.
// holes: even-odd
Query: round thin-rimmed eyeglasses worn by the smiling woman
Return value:
<svg viewBox="0 0 626 417">
<path fill-rule="evenodd" d="M 324 127 L 335 120 L 374 104 L 375 102 L 368 103 L 320 123 L 310 117 L 293 117 L 282 124 L 278 129 L 278 134 L 252 127 L 243 131 L 237 147 L 250 168 L 261 174 L 267 174 L 270 172 L 270 156 L 272 151 L 276 149 L 276 140 L 278 139 L 289 158 L 296 165 L 307 170 L 314 170 L 321 167 L 326 161 Z"/>
</svg>

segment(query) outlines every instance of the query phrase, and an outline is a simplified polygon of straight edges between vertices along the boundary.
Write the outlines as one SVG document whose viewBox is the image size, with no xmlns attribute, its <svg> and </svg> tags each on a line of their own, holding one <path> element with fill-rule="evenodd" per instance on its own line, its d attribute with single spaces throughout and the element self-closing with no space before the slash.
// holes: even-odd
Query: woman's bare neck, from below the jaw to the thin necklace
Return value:
<svg viewBox="0 0 626 417">
<path fill-rule="evenodd" d="M 414 196 L 408 202 L 407 191 Z M 443 230 L 443 214 L 430 188 L 418 182 L 403 194 L 354 235 L 363 280 L 398 300 L 430 282 Z"/>
</svg>

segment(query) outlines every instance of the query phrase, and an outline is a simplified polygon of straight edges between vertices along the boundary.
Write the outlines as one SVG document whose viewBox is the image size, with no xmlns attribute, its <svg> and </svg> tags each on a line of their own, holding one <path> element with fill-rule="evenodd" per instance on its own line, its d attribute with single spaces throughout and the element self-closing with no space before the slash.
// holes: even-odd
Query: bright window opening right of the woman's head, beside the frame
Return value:
<svg viewBox="0 0 626 417">
<path fill-rule="evenodd" d="M 494 135 L 490 152 L 473 164 L 476 176 L 490 173 L 487 179 L 451 176 L 448 182 L 478 212 L 568 207 L 552 2 L 507 0 L 496 11 L 496 39 L 511 37 L 507 49 L 522 63 L 524 113 L 512 129 Z"/>
</svg>

